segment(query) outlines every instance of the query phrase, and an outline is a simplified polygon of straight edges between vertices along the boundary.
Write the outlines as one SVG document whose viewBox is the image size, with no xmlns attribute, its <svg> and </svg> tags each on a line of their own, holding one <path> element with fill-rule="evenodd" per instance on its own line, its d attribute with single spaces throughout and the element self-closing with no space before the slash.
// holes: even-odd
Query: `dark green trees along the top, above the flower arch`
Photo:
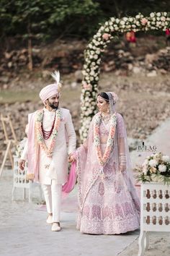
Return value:
<svg viewBox="0 0 170 256">
<path fill-rule="evenodd" d="M 1 36 L 89 38 L 109 17 L 170 9 L 169 0 L 1 0 Z"/>
</svg>

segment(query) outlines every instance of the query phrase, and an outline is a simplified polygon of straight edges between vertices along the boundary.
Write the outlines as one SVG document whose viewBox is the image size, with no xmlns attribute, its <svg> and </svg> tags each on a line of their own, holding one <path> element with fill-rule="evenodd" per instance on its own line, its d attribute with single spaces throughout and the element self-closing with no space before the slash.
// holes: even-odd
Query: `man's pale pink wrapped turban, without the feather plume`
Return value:
<svg viewBox="0 0 170 256">
<path fill-rule="evenodd" d="M 48 98 L 52 97 L 55 94 L 58 94 L 59 86 L 55 84 L 47 85 L 40 91 L 40 99 L 45 102 Z"/>
</svg>

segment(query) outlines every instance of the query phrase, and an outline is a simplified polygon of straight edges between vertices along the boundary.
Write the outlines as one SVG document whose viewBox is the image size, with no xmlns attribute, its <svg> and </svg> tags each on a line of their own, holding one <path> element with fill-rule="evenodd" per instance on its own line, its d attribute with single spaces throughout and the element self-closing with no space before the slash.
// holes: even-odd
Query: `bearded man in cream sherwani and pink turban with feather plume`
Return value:
<svg viewBox="0 0 170 256">
<path fill-rule="evenodd" d="M 24 170 L 28 162 L 27 179 L 42 184 L 48 211 L 47 223 L 52 231 L 60 231 L 62 184 L 68 180 L 68 162 L 73 161 L 76 133 L 70 111 L 59 108 L 61 97 L 60 74 L 53 75 L 55 83 L 40 91 L 44 108 L 28 116 L 27 143 L 19 161 Z M 67 148 L 68 142 L 68 148 Z"/>
</svg>

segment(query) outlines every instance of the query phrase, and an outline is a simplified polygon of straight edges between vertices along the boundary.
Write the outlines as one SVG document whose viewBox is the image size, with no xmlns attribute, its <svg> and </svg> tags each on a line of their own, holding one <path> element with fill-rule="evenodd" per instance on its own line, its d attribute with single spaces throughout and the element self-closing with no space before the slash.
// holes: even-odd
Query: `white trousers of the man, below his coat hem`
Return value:
<svg viewBox="0 0 170 256">
<path fill-rule="evenodd" d="M 53 214 L 53 222 L 60 222 L 61 213 L 61 184 L 55 184 L 52 179 L 51 185 L 42 184 L 48 213 Z"/>
</svg>

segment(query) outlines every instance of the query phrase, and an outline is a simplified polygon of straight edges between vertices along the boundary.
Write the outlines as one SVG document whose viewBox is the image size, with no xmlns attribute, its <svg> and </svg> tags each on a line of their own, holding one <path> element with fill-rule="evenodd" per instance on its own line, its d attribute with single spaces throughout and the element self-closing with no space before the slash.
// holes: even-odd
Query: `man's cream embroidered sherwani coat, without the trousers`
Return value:
<svg viewBox="0 0 170 256">
<path fill-rule="evenodd" d="M 64 184 L 68 178 L 68 154 L 76 149 L 76 133 L 73 129 L 70 111 L 61 109 L 61 124 L 58 129 L 58 137 L 55 141 L 52 158 L 49 158 L 45 151 L 40 148 L 39 161 L 39 182 L 41 184 L 51 184 L 52 179 L 56 184 Z M 49 131 L 53 125 L 55 111 L 48 111 L 44 108 L 42 126 L 45 131 Z M 45 144 L 50 145 L 50 138 L 45 140 Z M 68 142 L 68 148 L 67 148 Z M 27 160 L 27 143 L 22 153 L 22 159 Z"/>
</svg>

